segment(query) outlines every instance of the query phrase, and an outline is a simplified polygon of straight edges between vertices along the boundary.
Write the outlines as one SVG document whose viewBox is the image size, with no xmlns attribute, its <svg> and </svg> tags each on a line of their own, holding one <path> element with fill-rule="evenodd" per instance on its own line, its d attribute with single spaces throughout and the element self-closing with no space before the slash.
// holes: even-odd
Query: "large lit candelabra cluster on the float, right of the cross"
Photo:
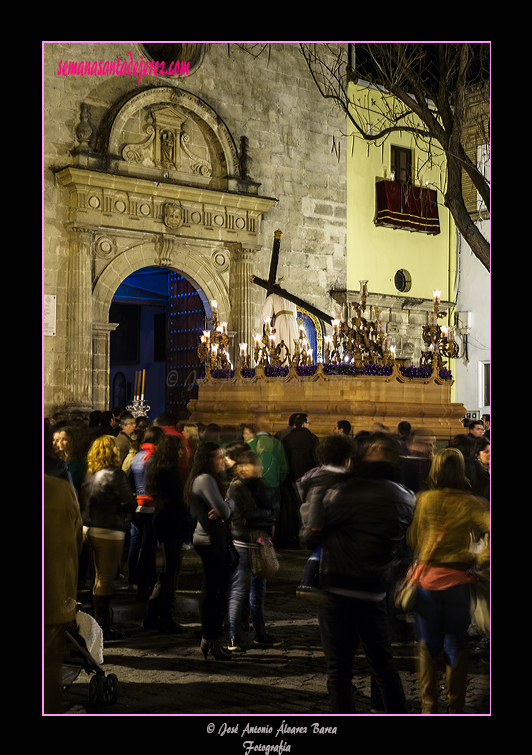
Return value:
<svg viewBox="0 0 532 755">
<path fill-rule="evenodd" d="M 367 302 L 367 281 L 360 281 L 360 302 L 353 302 L 351 325 L 343 322 L 340 315 L 333 320 L 333 333 L 325 337 L 326 364 L 354 364 L 356 369 L 363 364 L 390 365 L 395 359 L 395 346 L 384 332 L 382 314 L 375 307 L 375 320 L 364 316 Z"/>
</svg>

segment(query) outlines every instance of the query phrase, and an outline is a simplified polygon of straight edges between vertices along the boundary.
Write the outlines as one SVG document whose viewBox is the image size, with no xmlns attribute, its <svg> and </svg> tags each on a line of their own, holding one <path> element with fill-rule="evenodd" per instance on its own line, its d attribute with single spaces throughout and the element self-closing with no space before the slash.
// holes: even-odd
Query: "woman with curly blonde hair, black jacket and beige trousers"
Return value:
<svg viewBox="0 0 532 755">
<path fill-rule="evenodd" d="M 111 435 L 96 438 L 87 454 L 87 475 L 82 488 L 84 540 L 93 565 L 92 600 L 94 618 L 103 630 L 104 640 L 119 639 L 109 620 L 109 604 L 116 579 L 126 532 L 137 500 Z"/>
</svg>

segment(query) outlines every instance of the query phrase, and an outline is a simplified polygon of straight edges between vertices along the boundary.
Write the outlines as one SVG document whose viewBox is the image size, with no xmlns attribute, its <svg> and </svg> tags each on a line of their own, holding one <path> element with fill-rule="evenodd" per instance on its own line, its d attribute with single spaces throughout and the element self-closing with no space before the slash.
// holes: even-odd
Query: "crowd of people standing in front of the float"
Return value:
<svg viewBox="0 0 532 755">
<path fill-rule="evenodd" d="M 298 594 L 317 600 L 333 712 L 355 712 L 352 665 L 359 645 L 372 670 L 372 709 L 408 712 L 391 642 L 400 618 L 396 587 L 412 566 L 422 712 L 437 710 L 442 660 L 448 710 L 462 712 L 471 591 L 479 571 L 489 578 L 489 450 L 485 421 L 470 423 L 448 448 L 435 451 L 434 436 L 406 422 L 393 432 L 376 425 L 353 435 L 341 420 L 320 439 L 302 412 L 275 435 L 253 424 L 175 424 L 165 415 L 150 422 L 125 411 L 48 418 L 49 704 L 60 706 L 52 694 L 54 673 L 64 642 L 60 627 L 75 615 L 73 585 L 90 581 L 105 642 L 122 636 L 110 605 L 119 575 L 146 603 L 146 629 L 182 633 L 176 590 L 187 548 L 203 566 L 198 639 L 204 658 L 223 661 L 241 652 L 247 620 L 255 644 L 281 644 L 265 625 L 266 578 L 253 568 L 261 535 L 277 549 L 313 554 Z M 58 517 L 68 527 L 57 527 Z M 65 575 L 61 589 L 58 574 Z"/>
</svg>

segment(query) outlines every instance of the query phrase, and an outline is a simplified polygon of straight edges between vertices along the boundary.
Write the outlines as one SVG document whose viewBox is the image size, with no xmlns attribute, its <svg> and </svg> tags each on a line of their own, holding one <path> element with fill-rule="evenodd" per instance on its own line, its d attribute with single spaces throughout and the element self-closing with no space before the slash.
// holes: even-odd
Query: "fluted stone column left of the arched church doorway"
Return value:
<svg viewBox="0 0 532 755">
<path fill-rule="evenodd" d="M 92 405 L 92 233 L 71 228 L 67 285 L 65 408 L 90 412 Z"/>
</svg>

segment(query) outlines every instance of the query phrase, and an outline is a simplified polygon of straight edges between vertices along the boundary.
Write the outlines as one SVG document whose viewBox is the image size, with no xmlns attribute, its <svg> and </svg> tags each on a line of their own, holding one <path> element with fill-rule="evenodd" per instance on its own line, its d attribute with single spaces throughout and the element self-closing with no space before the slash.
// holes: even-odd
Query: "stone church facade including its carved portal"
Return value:
<svg viewBox="0 0 532 755">
<path fill-rule="evenodd" d="M 109 408 L 109 309 L 144 267 L 179 271 L 207 316 L 216 300 L 237 347 L 277 229 L 285 289 L 331 314 L 345 289 L 345 119 L 298 45 L 175 44 L 190 66 L 164 76 L 143 43 L 43 45 L 45 415 Z"/>
</svg>

